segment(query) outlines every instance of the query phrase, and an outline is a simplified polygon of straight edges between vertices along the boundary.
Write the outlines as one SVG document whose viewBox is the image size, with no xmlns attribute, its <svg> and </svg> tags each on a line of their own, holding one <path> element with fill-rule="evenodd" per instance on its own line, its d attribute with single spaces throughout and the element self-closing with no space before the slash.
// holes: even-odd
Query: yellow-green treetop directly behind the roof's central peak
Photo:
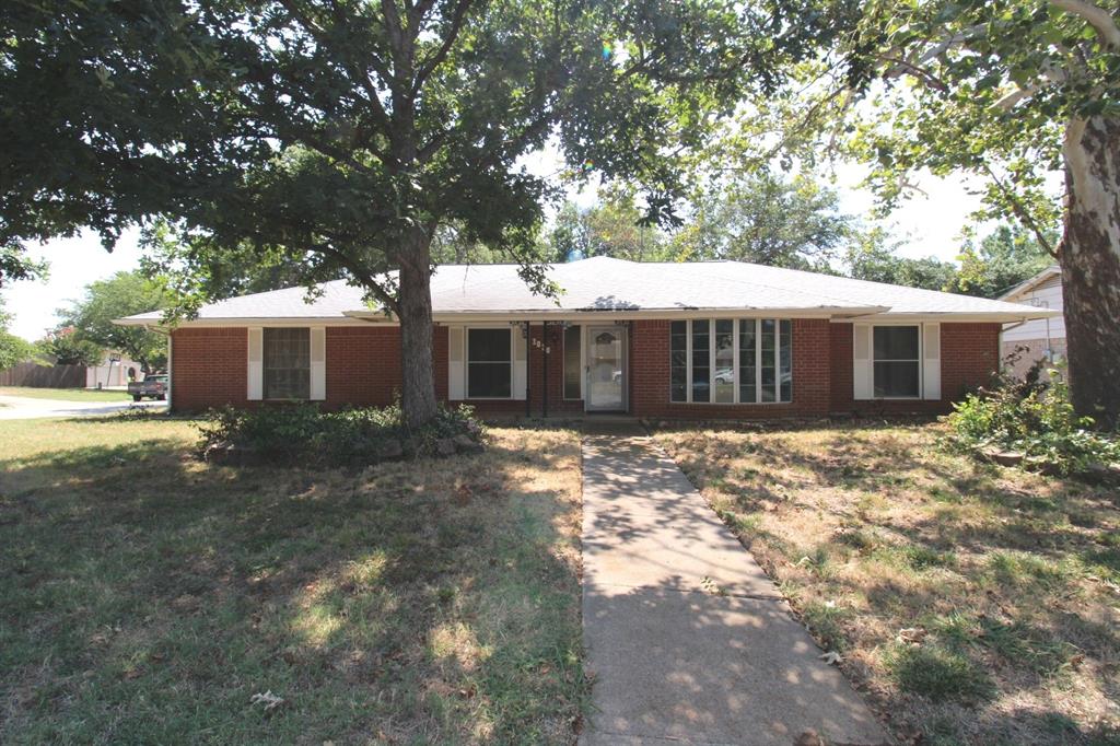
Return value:
<svg viewBox="0 0 1120 746">
<path fill-rule="evenodd" d="M 659 261 L 665 252 L 664 234 L 645 220 L 634 190 L 623 187 L 600 189 L 591 207 L 566 202 L 549 236 L 550 259 L 556 262 L 590 257 Z"/>
</svg>

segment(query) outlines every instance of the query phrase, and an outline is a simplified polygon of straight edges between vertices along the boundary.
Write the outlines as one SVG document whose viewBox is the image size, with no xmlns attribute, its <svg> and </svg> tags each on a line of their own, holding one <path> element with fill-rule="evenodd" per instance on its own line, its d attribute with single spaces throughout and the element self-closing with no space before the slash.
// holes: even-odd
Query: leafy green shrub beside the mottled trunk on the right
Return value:
<svg viewBox="0 0 1120 746">
<path fill-rule="evenodd" d="M 1095 430 L 1092 418 L 1077 416 L 1060 369 L 1047 373 L 1047 382 L 1037 372 L 1024 380 L 1000 377 L 992 388 L 953 404 L 945 418 L 948 445 L 972 454 L 1020 453 L 1025 464 L 1061 474 L 1120 464 L 1120 439 Z"/>
</svg>

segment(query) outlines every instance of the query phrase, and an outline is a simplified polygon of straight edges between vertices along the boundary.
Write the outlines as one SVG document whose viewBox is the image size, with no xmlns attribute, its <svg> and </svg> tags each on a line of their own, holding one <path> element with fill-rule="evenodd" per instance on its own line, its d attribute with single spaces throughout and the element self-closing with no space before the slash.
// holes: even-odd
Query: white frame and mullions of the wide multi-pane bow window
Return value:
<svg viewBox="0 0 1120 746">
<path fill-rule="evenodd" d="M 731 329 L 731 354 L 734 365 L 731 366 L 731 375 L 734 377 L 735 397 L 732 401 L 716 401 L 716 321 L 717 320 L 730 320 L 735 321 L 735 326 Z M 673 389 L 672 389 L 672 367 L 673 367 L 673 345 L 672 345 L 672 321 L 670 321 L 669 334 L 670 334 L 670 345 L 669 345 L 669 369 L 670 369 L 670 386 L 669 386 L 669 403 L 670 404 L 713 404 L 716 407 L 731 407 L 735 404 L 758 404 L 763 407 L 782 405 L 793 403 L 793 386 L 790 388 L 790 400 L 782 401 L 782 321 L 790 321 L 790 334 L 793 335 L 793 319 L 781 318 L 781 317 L 752 317 L 752 318 L 735 318 L 728 316 L 712 316 L 708 319 L 673 319 L 675 321 L 684 321 L 684 355 L 685 355 L 685 399 L 684 401 L 673 401 Z M 709 371 L 709 401 L 692 401 L 692 323 L 693 321 L 708 321 L 708 371 Z M 777 399 L 774 401 L 763 401 L 763 333 L 762 325 L 764 320 L 774 321 L 774 390 Z M 741 401 L 739 398 L 739 325 L 740 324 L 754 324 L 755 325 L 755 401 Z M 793 349 L 790 349 L 790 376 L 793 376 Z"/>
</svg>

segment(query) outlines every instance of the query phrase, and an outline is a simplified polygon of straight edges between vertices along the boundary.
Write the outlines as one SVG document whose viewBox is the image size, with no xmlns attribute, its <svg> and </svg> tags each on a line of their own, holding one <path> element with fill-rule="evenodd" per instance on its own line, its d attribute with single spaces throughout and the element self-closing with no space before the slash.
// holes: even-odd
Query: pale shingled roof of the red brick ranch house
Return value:
<svg viewBox="0 0 1120 746">
<path fill-rule="evenodd" d="M 745 262 L 629 262 L 596 257 L 548 270 L 557 298 L 534 295 L 515 264 L 444 264 L 431 280 L 437 321 L 466 318 L 543 319 L 588 314 L 618 318 L 692 316 L 703 313 L 783 313 L 832 318 L 953 316 L 960 320 L 1018 321 L 1055 311 L 999 300 L 921 290 L 883 282 L 780 269 Z M 288 288 L 204 306 L 188 325 L 343 323 L 390 320 L 344 280 L 325 282 L 308 297 Z M 120 319 L 157 324 L 159 313 Z"/>
</svg>

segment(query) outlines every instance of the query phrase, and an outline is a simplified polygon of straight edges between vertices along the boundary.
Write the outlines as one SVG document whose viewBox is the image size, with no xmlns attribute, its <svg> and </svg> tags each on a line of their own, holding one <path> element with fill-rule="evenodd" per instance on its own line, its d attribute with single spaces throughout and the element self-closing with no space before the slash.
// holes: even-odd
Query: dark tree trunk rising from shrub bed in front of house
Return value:
<svg viewBox="0 0 1120 746">
<path fill-rule="evenodd" d="M 431 351 L 431 239 L 412 229 L 409 244 L 401 252 L 401 404 L 404 422 L 418 428 L 430 422 L 437 412 L 436 375 Z"/>
</svg>

